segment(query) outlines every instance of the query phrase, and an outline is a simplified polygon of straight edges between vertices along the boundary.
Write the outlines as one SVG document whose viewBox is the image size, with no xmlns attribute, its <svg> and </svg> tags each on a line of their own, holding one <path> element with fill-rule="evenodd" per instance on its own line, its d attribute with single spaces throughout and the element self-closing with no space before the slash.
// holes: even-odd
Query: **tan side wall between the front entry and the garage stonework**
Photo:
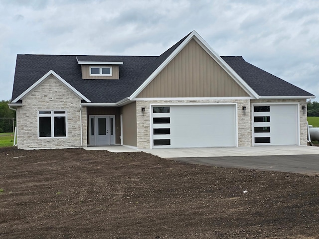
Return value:
<svg viewBox="0 0 319 239">
<path fill-rule="evenodd" d="M 123 106 L 120 113 L 123 115 L 123 144 L 137 146 L 137 126 L 136 126 L 136 102 Z"/>
</svg>

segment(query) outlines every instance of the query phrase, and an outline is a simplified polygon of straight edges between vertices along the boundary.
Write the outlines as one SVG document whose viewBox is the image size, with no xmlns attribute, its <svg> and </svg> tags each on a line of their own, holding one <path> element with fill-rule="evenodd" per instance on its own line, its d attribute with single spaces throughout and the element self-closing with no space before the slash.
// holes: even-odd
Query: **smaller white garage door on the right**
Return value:
<svg viewBox="0 0 319 239">
<path fill-rule="evenodd" d="M 297 145 L 298 105 L 253 106 L 254 145 Z"/>
</svg>

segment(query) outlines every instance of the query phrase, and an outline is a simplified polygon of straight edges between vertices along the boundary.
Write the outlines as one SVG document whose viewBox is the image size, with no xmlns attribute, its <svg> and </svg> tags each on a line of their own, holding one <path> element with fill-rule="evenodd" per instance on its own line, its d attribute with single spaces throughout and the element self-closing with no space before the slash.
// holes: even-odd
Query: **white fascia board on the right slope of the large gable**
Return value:
<svg viewBox="0 0 319 239">
<path fill-rule="evenodd" d="M 259 98 L 259 95 L 214 51 L 211 46 L 196 32 L 194 31 L 196 42 L 203 47 L 203 49 L 223 68 L 233 80 L 239 84 L 246 93 L 255 99 Z M 197 39 L 196 39 L 197 38 Z"/>
</svg>

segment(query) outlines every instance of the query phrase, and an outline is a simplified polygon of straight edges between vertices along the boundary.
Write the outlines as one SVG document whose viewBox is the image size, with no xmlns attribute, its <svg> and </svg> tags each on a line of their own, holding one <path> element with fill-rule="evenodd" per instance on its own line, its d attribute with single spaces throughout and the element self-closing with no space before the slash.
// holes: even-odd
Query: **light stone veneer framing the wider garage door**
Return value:
<svg viewBox="0 0 319 239">
<path fill-rule="evenodd" d="M 251 146 L 250 100 L 180 100 L 180 101 L 137 101 L 137 148 L 151 148 L 150 142 L 150 104 L 198 104 L 198 103 L 237 103 L 238 146 Z M 246 111 L 242 107 L 246 107 Z M 141 108 L 145 107 L 145 115 Z"/>
</svg>

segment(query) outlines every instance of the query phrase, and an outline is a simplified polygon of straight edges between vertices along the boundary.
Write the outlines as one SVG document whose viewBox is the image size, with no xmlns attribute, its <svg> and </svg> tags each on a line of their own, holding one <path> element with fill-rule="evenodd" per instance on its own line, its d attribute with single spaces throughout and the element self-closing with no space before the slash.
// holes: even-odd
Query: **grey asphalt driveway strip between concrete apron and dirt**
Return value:
<svg viewBox="0 0 319 239">
<path fill-rule="evenodd" d="M 319 154 L 279 156 L 233 156 L 169 158 L 174 161 L 218 167 L 234 167 L 267 171 L 319 175 Z"/>
</svg>

